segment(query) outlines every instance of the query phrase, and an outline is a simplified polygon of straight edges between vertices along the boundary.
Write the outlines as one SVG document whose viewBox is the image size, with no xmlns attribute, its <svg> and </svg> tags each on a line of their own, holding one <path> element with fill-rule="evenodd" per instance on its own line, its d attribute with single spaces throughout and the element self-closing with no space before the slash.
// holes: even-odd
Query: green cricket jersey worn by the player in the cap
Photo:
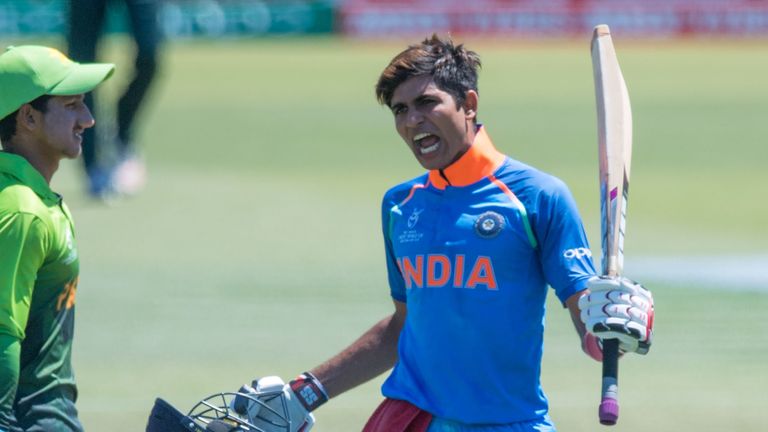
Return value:
<svg viewBox="0 0 768 432">
<path fill-rule="evenodd" d="M 61 197 L 0 152 L 0 431 L 80 431 L 71 366 L 79 261 Z"/>
</svg>

